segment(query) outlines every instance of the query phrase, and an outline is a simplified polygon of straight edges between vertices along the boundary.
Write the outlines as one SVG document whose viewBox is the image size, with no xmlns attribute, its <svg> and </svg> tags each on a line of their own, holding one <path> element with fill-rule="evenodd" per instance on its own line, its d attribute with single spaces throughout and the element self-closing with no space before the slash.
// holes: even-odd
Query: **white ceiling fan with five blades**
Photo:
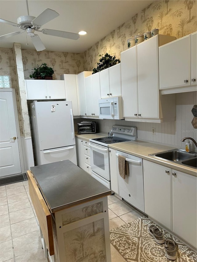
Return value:
<svg viewBox="0 0 197 262">
<path fill-rule="evenodd" d="M 28 15 L 18 17 L 17 24 L 0 18 L 0 22 L 6 23 L 8 25 L 13 25 L 15 27 L 19 27 L 20 29 L 22 29 L 24 31 L 13 32 L 13 33 L 2 35 L 2 36 L 0 36 L 0 40 L 4 40 L 7 37 L 12 37 L 12 36 L 17 35 L 17 34 L 22 34 L 26 31 L 26 34 L 28 36 L 30 36 L 30 39 L 31 39 L 35 49 L 37 51 L 42 51 L 42 50 L 46 49 L 46 47 L 43 45 L 40 37 L 35 33 L 35 31 L 41 32 L 41 33 L 46 34 L 46 35 L 64 37 L 64 38 L 69 38 L 69 39 L 73 39 L 73 40 L 77 40 L 79 38 L 78 33 L 70 33 L 70 32 L 53 30 L 53 29 L 39 30 L 42 25 L 44 25 L 47 22 L 51 21 L 52 19 L 58 17 L 59 14 L 56 11 L 47 8 L 41 14 L 39 14 L 37 17 L 30 16 L 27 0 L 26 0 L 26 5 L 27 5 Z"/>
</svg>

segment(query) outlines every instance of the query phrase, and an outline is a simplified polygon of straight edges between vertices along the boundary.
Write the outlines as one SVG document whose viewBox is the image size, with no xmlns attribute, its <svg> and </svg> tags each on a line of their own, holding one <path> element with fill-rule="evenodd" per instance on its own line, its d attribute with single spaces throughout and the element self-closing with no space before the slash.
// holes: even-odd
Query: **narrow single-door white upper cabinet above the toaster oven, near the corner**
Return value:
<svg viewBox="0 0 197 262">
<path fill-rule="evenodd" d="M 83 71 L 78 76 L 78 88 L 79 88 L 79 101 L 80 101 L 80 115 L 87 115 L 86 109 L 86 93 L 85 93 L 85 77 L 90 76 L 92 72 Z"/>
</svg>

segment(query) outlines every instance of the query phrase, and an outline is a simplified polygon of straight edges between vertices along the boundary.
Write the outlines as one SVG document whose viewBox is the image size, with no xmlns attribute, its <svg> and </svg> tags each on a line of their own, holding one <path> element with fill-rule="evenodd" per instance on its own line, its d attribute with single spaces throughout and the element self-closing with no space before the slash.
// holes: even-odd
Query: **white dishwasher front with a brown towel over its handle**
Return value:
<svg viewBox="0 0 197 262">
<path fill-rule="evenodd" d="M 123 179 L 118 170 L 118 156 L 122 155 L 129 164 L 129 175 Z M 119 195 L 132 206 L 144 212 L 144 181 L 142 158 L 116 151 Z"/>
</svg>

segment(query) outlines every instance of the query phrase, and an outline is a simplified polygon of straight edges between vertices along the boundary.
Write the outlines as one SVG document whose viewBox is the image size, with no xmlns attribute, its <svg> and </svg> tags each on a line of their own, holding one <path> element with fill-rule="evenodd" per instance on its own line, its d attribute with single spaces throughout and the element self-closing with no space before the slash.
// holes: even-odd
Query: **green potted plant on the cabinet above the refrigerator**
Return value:
<svg viewBox="0 0 197 262">
<path fill-rule="evenodd" d="M 42 65 L 37 65 L 37 67 L 34 68 L 34 72 L 32 75 L 30 75 L 30 78 L 52 80 L 53 74 L 53 68 L 48 67 L 46 63 L 43 63 Z"/>
</svg>

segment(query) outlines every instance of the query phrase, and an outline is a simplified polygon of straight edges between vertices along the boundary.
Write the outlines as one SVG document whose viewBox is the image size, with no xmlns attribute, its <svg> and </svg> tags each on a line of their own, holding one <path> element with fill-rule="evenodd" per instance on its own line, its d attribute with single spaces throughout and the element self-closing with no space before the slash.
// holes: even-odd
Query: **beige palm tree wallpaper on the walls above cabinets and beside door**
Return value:
<svg viewBox="0 0 197 262">
<path fill-rule="evenodd" d="M 60 79 L 61 74 L 78 74 L 82 71 L 92 71 L 99 60 L 99 54 L 109 53 L 120 59 L 120 53 L 126 50 L 127 39 L 138 33 L 144 33 L 158 28 L 159 34 L 183 37 L 197 31 L 197 1 L 196 0 L 160 0 L 145 6 L 138 14 L 131 17 L 100 41 L 90 46 L 84 53 L 67 53 L 22 49 L 24 78 L 30 79 L 30 74 L 36 65 L 46 63 L 54 69 L 53 79 Z M 114 3 L 112 3 L 114 4 Z M 0 75 L 9 76 L 10 88 L 16 90 L 18 117 L 21 135 L 22 120 L 16 79 L 16 64 L 13 49 L 0 48 Z M 21 101 L 19 101 L 21 100 Z M 27 112 L 25 112 L 27 113 Z M 24 123 L 25 124 L 25 123 Z M 29 125 L 29 123 L 27 123 Z M 26 135 L 25 135 L 26 137 Z"/>
</svg>

